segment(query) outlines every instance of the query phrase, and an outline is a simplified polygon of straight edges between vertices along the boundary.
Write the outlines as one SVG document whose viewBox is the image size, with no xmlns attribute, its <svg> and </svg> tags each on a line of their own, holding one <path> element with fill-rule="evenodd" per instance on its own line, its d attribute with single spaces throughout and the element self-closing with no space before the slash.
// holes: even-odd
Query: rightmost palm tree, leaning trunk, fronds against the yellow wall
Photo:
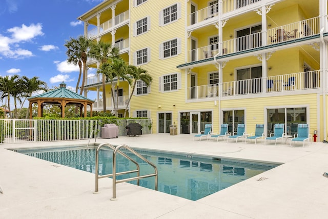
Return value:
<svg viewBox="0 0 328 219">
<path fill-rule="evenodd" d="M 133 65 L 129 65 L 128 68 L 129 68 L 129 75 L 133 78 L 134 82 L 133 82 L 133 86 L 132 86 L 132 92 L 130 93 L 129 101 L 127 103 L 127 107 L 125 108 L 125 111 L 124 111 L 124 117 L 127 114 L 132 95 L 133 95 L 134 90 L 137 85 L 137 81 L 140 80 L 140 81 L 144 82 L 147 86 L 150 86 L 151 83 L 153 82 L 153 78 L 150 74 L 148 74 L 147 70 L 145 70 L 141 67 L 133 66 Z"/>
</svg>

